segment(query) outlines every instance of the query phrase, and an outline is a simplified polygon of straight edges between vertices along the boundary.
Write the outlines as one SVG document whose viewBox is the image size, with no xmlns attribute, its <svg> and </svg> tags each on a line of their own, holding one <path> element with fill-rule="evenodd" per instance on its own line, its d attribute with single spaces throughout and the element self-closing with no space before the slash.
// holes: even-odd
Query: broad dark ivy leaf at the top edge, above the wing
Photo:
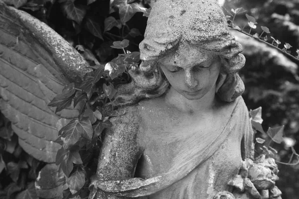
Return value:
<svg viewBox="0 0 299 199">
<path fill-rule="evenodd" d="M 72 0 L 68 0 L 62 4 L 62 10 L 68 19 L 76 21 L 80 24 L 86 14 L 86 9 L 82 5 L 75 5 Z"/>
</svg>

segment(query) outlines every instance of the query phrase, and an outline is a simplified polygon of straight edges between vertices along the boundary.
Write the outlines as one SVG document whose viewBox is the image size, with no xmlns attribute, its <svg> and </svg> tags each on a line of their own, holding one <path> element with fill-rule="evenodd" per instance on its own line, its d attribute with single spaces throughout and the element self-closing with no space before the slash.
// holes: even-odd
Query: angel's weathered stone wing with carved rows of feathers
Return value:
<svg viewBox="0 0 299 199">
<path fill-rule="evenodd" d="M 81 65 L 77 66 L 80 69 L 87 63 L 53 30 L 48 34 L 51 37 L 56 34 L 54 37 L 62 42 L 54 42 L 51 46 L 51 40 L 43 39 L 50 29 L 46 24 L 39 21 L 41 25 L 37 26 L 42 26 L 44 32 L 35 32 L 34 26 L 28 28 L 30 25 L 24 20 L 38 22 L 0 0 L 0 111 L 11 121 L 20 146 L 34 158 L 51 163 L 55 162 L 61 148 L 53 142 L 58 137 L 57 129 L 78 116 L 78 110 L 64 109 L 56 115 L 55 108 L 47 104 L 68 84 L 62 75 L 66 72 L 62 65 L 76 65 L 79 62 L 69 60 L 81 59 Z M 65 59 L 59 57 L 56 52 L 59 45 L 73 52 L 65 54 Z M 82 66 L 82 63 L 85 64 Z M 77 77 L 82 77 L 84 71 L 79 73 Z"/>
</svg>

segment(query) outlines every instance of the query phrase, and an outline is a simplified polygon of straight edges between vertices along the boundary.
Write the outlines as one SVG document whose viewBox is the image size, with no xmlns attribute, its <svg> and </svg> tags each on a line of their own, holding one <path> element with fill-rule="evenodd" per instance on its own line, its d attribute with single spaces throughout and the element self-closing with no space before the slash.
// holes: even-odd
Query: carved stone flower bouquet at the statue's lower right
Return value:
<svg viewBox="0 0 299 199">
<path fill-rule="evenodd" d="M 245 159 L 239 174 L 228 184 L 235 188 L 236 199 L 242 199 L 243 195 L 250 195 L 252 199 L 281 199 L 282 193 L 275 186 L 278 172 L 275 160 L 261 155 L 254 161 Z"/>
</svg>

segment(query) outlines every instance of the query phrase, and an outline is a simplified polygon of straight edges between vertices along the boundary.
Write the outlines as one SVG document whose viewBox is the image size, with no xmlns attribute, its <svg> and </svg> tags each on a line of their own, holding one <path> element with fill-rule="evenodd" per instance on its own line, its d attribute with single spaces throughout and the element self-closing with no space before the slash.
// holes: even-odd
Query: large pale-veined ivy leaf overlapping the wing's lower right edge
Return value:
<svg viewBox="0 0 299 199">
<path fill-rule="evenodd" d="M 89 119 L 72 119 L 65 127 L 63 127 L 59 133 L 61 133 L 61 139 L 63 141 L 63 148 L 67 149 L 74 145 L 81 136 L 91 140 L 93 135 L 92 125 Z"/>
</svg>

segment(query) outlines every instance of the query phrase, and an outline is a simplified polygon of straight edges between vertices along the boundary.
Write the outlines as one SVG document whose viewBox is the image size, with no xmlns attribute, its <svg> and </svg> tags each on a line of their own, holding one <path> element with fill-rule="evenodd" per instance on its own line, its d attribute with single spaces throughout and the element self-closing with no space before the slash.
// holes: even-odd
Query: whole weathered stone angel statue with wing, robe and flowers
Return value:
<svg viewBox="0 0 299 199">
<path fill-rule="evenodd" d="M 56 116 L 46 104 L 62 83 L 82 77 L 87 64 L 35 19 L 0 9 L 1 19 L 14 17 L 25 26 L 19 31 L 1 23 L 1 42 L 9 43 L 0 44 L 0 110 L 20 145 L 51 163 L 52 141 L 64 121 L 58 119 L 77 110 Z M 12 42 L 33 26 L 40 40 Z M 238 75 L 245 57 L 217 0 L 158 0 L 139 47 L 140 70 L 130 71 L 132 82 L 118 88 L 113 105 L 124 114 L 110 119 L 89 199 L 279 199 L 274 160 L 254 159 Z"/>
</svg>

